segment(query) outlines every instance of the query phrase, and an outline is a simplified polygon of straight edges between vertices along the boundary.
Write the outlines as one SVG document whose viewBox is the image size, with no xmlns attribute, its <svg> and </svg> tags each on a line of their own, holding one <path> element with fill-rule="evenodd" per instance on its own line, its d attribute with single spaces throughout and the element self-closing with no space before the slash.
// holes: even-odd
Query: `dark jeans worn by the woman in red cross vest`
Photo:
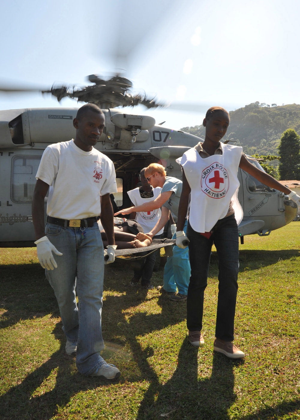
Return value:
<svg viewBox="0 0 300 420">
<path fill-rule="evenodd" d="M 239 236 L 234 215 L 218 220 L 209 239 L 187 227 L 191 278 L 187 293 L 187 328 L 201 331 L 204 290 L 207 286 L 211 247 L 216 246 L 219 259 L 218 308 L 216 338 L 234 339 L 234 315 L 237 299 L 237 275 L 239 271 Z"/>
</svg>

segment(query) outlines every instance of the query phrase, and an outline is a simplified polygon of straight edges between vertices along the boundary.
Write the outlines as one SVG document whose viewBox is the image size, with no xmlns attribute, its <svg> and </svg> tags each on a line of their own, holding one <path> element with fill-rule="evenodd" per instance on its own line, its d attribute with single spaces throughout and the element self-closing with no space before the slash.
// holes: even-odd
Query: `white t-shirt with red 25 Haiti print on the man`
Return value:
<svg viewBox="0 0 300 420">
<path fill-rule="evenodd" d="M 100 196 L 117 192 L 113 162 L 94 147 L 84 152 L 73 139 L 45 149 L 36 178 L 50 185 L 47 215 L 60 219 L 99 216 Z"/>
</svg>

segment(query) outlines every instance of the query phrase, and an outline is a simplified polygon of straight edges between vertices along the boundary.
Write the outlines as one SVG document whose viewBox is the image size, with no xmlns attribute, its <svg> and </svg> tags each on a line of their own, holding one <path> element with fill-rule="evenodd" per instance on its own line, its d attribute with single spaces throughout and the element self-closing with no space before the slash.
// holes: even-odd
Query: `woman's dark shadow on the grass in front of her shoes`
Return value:
<svg viewBox="0 0 300 420">
<path fill-rule="evenodd" d="M 201 352 L 201 350 L 200 350 Z M 144 395 L 138 420 L 159 419 L 229 419 L 227 410 L 234 402 L 233 367 L 242 361 L 214 354 L 211 377 L 198 379 L 198 349 L 184 339 L 178 354 L 178 365 L 172 378 L 162 385 L 149 367 L 145 372 L 152 378 Z M 158 397 L 157 397 L 158 396 Z"/>
</svg>

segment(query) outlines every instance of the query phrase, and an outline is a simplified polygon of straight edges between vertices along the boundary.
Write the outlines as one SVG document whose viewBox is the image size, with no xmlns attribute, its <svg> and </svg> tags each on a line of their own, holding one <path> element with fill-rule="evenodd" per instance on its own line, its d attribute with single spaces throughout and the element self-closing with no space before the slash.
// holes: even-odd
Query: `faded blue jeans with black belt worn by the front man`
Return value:
<svg viewBox="0 0 300 420">
<path fill-rule="evenodd" d="M 54 255 L 57 268 L 46 270 L 46 277 L 54 289 L 67 340 L 77 343 L 77 369 L 89 375 L 105 362 L 100 356 L 104 349 L 101 330 L 104 258 L 98 224 L 90 228 L 63 228 L 46 223 L 45 233 L 63 253 Z"/>
</svg>

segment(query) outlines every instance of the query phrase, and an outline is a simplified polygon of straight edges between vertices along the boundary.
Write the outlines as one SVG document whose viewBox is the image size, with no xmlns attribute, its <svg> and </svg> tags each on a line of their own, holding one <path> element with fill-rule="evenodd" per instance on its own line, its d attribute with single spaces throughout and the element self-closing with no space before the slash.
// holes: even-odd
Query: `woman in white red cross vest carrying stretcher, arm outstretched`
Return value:
<svg viewBox="0 0 300 420">
<path fill-rule="evenodd" d="M 229 126 L 229 113 L 221 107 L 210 108 L 203 120 L 205 140 L 177 160 L 182 166 L 182 194 L 179 202 L 176 245 L 189 239 L 191 277 L 187 292 L 187 328 L 193 346 L 204 344 L 201 334 L 204 290 L 207 286 L 211 247 L 219 259 L 219 292 L 216 339 L 213 349 L 232 359 L 245 357 L 234 340 L 234 315 L 239 270 L 237 225 L 243 213 L 237 199 L 238 168 L 263 184 L 287 194 L 299 207 L 300 197 L 272 176 L 251 165 L 242 147 L 221 143 Z M 183 232 L 188 218 L 187 236 Z"/>
</svg>

